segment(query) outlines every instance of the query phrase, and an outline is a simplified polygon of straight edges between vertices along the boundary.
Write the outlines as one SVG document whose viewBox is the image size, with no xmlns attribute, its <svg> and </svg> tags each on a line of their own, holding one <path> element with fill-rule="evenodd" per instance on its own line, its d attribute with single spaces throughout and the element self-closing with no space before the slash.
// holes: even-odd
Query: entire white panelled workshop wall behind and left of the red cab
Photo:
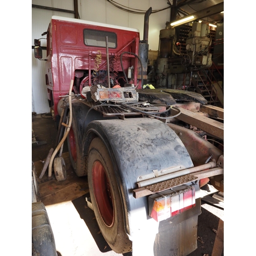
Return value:
<svg viewBox="0 0 256 256">
<path fill-rule="evenodd" d="M 139 10 L 159 10 L 167 7 L 167 1 L 156 0 L 116 0 L 117 3 Z M 47 6 L 59 9 L 74 10 L 74 0 L 32 0 L 32 5 Z M 108 3 L 106 0 L 78 0 L 78 12 L 81 19 L 92 22 L 113 24 L 118 26 L 136 28 L 143 39 L 144 15 L 122 11 Z M 47 31 L 52 15 L 74 17 L 71 13 L 32 8 L 32 46 L 34 39 L 42 38 L 41 34 Z M 158 50 L 159 31 L 165 28 L 169 21 L 170 9 L 153 13 L 150 16 L 148 44 L 150 50 Z M 46 46 L 46 40 L 41 39 L 41 45 Z M 46 51 L 43 51 L 46 58 Z M 32 50 L 32 112 L 37 114 L 50 112 L 45 82 L 45 61 L 35 59 Z"/>
</svg>

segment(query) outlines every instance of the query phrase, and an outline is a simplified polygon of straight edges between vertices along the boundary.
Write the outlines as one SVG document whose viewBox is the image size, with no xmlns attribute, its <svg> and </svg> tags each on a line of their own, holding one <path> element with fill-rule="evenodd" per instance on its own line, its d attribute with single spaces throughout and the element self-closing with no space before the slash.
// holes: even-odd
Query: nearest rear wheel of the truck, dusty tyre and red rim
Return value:
<svg viewBox="0 0 256 256">
<path fill-rule="evenodd" d="M 88 155 L 88 183 L 94 214 L 101 233 L 116 253 L 132 250 L 124 230 L 124 216 L 114 167 L 100 138 L 91 142 Z"/>
</svg>

